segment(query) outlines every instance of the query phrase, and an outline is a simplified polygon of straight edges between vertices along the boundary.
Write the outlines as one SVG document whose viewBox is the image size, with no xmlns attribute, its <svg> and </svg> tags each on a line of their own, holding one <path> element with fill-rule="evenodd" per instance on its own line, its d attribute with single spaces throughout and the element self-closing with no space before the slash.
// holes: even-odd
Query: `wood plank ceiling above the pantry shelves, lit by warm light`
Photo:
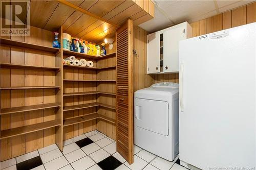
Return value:
<svg viewBox="0 0 256 170">
<path fill-rule="evenodd" d="M 147 13 L 149 4 L 144 0 L 147 10 L 132 0 L 104 1 L 81 0 L 68 1 L 84 10 L 121 26 L 127 19 L 133 19 L 136 25 L 152 19 L 154 14 Z M 141 1 L 143 3 L 143 1 Z M 147 3 L 146 3 L 147 2 Z M 60 26 L 63 32 L 87 41 L 98 42 L 106 35 L 114 36 L 116 28 L 107 22 L 84 14 L 58 1 L 30 1 L 31 26 L 56 31 Z"/>
</svg>

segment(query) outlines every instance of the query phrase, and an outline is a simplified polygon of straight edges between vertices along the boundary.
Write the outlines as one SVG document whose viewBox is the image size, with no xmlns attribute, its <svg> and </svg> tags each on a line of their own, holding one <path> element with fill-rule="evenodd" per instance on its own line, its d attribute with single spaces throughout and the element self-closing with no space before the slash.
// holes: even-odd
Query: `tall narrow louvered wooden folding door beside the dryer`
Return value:
<svg viewBox="0 0 256 170">
<path fill-rule="evenodd" d="M 117 152 L 133 163 L 133 21 L 117 30 Z"/>
</svg>

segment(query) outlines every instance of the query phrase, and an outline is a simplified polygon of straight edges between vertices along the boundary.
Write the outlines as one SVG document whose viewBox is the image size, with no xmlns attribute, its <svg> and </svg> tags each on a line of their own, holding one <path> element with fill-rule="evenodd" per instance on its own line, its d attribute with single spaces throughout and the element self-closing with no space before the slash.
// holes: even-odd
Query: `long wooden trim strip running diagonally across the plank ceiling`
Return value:
<svg viewBox="0 0 256 170">
<path fill-rule="evenodd" d="M 68 2 L 68 1 L 66 1 L 66 0 L 58 0 L 58 2 L 61 3 L 61 4 L 65 4 L 65 5 L 67 5 L 67 6 L 71 7 L 71 8 L 74 8 L 74 9 L 76 9 L 76 10 L 78 10 L 78 11 L 84 13 L 84 14 L 90 15 L 90 16 L 92 16 L 92 17 L 95 17 L 95 18 L 99 19 L 99 20 L 102 20 L 102 21 L 104 21 L 104 22 L 107 22 L 107 23 L 109 23 L 110 25 L 114 26 L 115 28 L 119 28 L 119 27 L 120 27 L 120 26 L 117 25 L 116 23 L 114 23 L 114 22 L 112 22 L 112 21 L 109 21 L 109 20 L 107 20 L 107 19 L 104 19 L 104 18 L 102 18 L 102 17 L 99 17 L 99 16 L 97 16 L 97 15 L 95 15 L 95 14 L 93 14 L 93 13 L 87 11 L 87 10 L 84 10 L 84 9 L 82 9 L 82 8 L 80 8 L 80 7 L 74 5 L 74 4 L 72 4 L 72 3 L 70 3 L 70 2 Z"/>
</svg>

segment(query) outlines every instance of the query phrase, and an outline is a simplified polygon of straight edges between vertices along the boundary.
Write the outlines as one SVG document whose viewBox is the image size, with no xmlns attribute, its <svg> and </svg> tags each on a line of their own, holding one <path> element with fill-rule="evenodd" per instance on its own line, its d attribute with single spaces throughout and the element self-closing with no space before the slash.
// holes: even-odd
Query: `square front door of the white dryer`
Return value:
<svg viewBox="0 0 256 170">
<path fill-rule="evenodd" d="M 135 98 L 134 125 L 168 136 L 168 102 Z"/>
</svg>

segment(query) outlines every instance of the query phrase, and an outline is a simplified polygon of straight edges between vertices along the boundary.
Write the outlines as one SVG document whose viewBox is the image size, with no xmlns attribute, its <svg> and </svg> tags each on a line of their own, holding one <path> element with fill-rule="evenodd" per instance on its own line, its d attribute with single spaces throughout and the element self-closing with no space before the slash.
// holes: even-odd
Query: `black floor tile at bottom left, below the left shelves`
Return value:
<svg viewBox="0 0 256 170">
<path fill-rule="evenodd" d="M 40 156 L 28 159 L 17 164 L 17 170 L 29 170 L 42 165 Z"/>
</svg>

